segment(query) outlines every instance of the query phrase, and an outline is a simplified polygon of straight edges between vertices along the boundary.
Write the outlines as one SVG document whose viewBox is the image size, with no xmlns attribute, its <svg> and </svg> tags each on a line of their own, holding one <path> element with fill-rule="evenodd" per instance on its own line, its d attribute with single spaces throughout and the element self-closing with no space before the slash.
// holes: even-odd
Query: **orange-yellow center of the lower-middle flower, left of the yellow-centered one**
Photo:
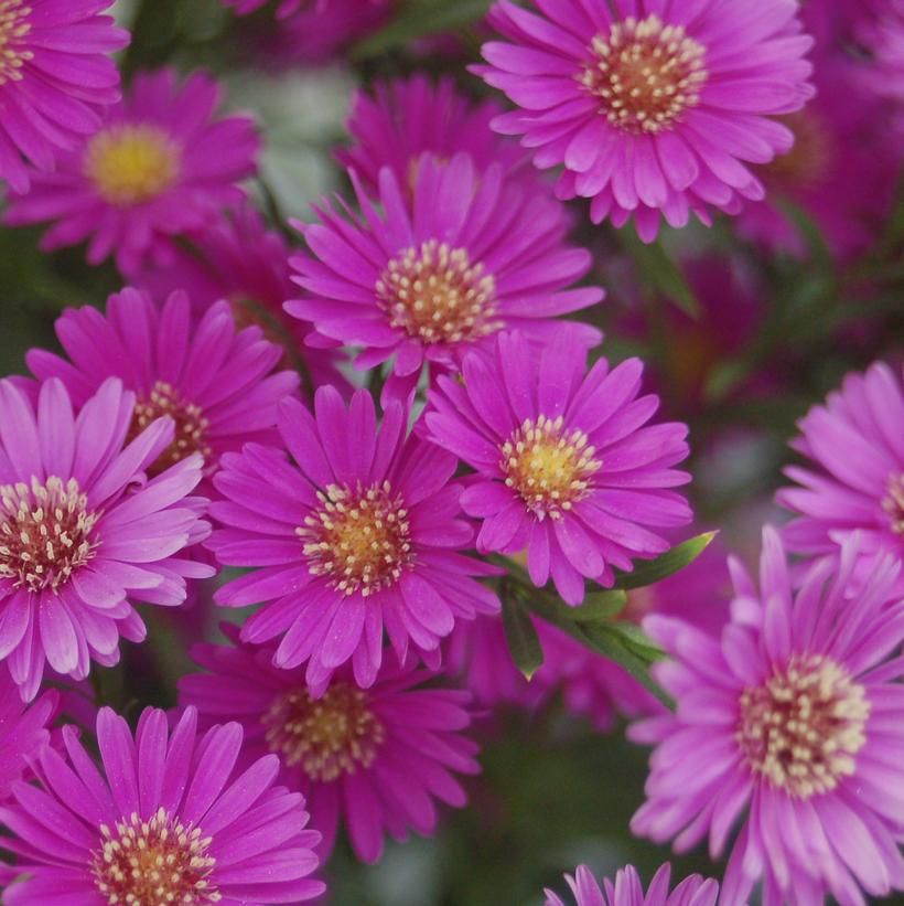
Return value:
<svg viewBox="0 0 904 906">
<path fill-rule="evenodd" d="M 346 595 L 364 597 L 395 584 L 411 563 L 408 511 L 388 481 L 369 488 L 331 484 L 321 507 L 295 529 L 315 576 Z"/>
</svg>

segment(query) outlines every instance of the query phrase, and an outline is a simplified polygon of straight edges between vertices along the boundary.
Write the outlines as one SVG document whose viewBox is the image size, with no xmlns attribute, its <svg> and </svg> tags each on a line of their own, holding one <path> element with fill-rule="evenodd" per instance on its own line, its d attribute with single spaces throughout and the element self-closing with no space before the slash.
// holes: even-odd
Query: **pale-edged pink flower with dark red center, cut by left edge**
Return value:
<svg viewBox="0 0 904 906">
<path fill-rule="evenodd" d="M 80 680 L 92 659 L 116 663 L 120 635 L 140 641 L 131 601 L 177 606 L 186 577 L 213 574 L 180 556 L 209 530 L 187 497 L 201 457 L 148 480 L 174 425 L 134 431 L 134 408 L 116 379 L 77 416 L 56 379 L 36 402 L 0 381 L 0 659 L 25 701 L 45 660 Z"/>
</svg>

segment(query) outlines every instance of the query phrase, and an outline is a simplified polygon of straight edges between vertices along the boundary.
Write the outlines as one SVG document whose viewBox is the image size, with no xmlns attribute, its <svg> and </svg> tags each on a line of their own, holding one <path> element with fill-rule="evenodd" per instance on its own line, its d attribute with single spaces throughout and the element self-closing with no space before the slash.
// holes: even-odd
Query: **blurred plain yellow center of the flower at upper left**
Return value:
<svg viewBox="0 0 904 906">
<path fill-rule="evenodd" d="M 111 126 L 88 142 L 85 173 L 100 196 L 130 207 L 165 192 L 179 177 L 181 152 L 155 126 Z"/>
</svg>

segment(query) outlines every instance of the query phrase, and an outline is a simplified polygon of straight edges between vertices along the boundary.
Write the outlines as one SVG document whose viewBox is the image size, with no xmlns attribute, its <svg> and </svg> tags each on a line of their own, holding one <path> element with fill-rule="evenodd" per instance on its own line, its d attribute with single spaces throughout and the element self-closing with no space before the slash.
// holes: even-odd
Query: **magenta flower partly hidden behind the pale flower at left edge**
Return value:
<svg viewBox="0 0 904 906">
<path fill-rule="evenodd" d="M 225 451 L 276 438 L 277 404 L 298 387 L 295 372 L 273 373 L 282 348 L 257 327 L 238 330 L 224 300 L 195 320 L 182 291 L 158 308 L 147 294 L 123 289 L 110 296 L 106 316 L 92 307 L 64 311 L 56 334 L 68 360 L 30 350 L 40 379 L 62 380 L 76 404 L 108 377 L 121 379 L 137 397 L 131 436 L 161 416 L 173 419 L 172 443 L 150 463 L 152 475 L 200 454 L 209 477 Z"/>
</svg>

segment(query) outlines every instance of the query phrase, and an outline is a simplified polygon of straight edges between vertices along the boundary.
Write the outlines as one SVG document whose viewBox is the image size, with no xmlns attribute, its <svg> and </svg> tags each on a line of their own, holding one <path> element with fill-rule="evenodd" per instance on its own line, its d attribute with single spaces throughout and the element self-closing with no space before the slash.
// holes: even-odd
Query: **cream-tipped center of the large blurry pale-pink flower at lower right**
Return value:
<svg viewBox="0 0 904 906">
<path fill-rule="evenodd" d="M 744 690 L 736 739 L 755 771 L 806 799 L 854 772 L 869 714 L 863 686 L 843 667 L 795 657 L 784 673 Z"/>
</svg>

